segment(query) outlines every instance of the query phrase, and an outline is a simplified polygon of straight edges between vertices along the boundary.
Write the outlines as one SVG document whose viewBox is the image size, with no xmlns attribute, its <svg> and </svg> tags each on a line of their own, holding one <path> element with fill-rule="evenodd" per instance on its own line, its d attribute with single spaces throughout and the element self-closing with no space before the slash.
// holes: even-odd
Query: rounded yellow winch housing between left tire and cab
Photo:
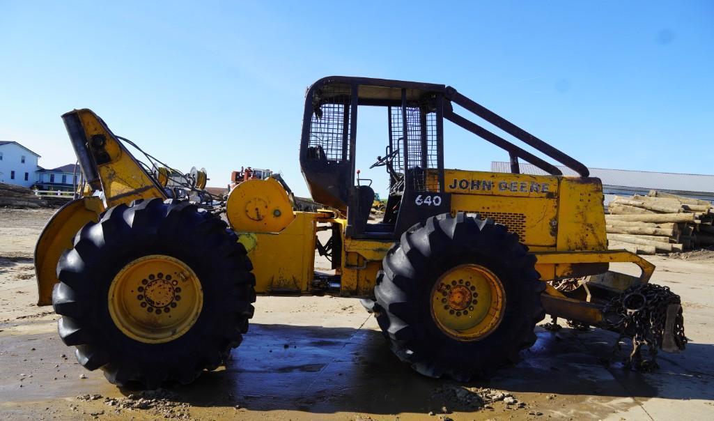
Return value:
<svg viewBox="0 0 714 421">
<path fill-rule="evenodd" d="M 281 232 L 295 214 L 288 193 L 269 177 L 238 184 L 228 195 L 226 217 L 238 232 Z"/>
</svg>

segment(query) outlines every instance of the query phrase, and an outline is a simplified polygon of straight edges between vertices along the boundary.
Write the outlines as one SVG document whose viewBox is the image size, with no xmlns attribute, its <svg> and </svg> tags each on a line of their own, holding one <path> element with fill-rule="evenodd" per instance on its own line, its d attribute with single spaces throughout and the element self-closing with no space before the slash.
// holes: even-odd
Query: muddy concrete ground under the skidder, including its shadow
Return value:
<svg viewBox="0 0 714 421">
<path fill-rule="evenodd" d="M 653 373 L 607 365 L 610 332 L 538 327 L 523 361 L 491 381 L 433 380 L 391 355 L 355 299 L 258 297 L 227 367 L 142 394 L 79 366 L 56 335 L 51 307 L 34 305 L 32 252 L 50 215 L 0 209 L 0 419 L 714 419 L 711 253 L 648 257 L 658 267 L 653 282 L 681 295 L 691 340 L 685 352 L 660 354 Z M 516 403 L 479 403 L 498 392 Z"/>
</svg>

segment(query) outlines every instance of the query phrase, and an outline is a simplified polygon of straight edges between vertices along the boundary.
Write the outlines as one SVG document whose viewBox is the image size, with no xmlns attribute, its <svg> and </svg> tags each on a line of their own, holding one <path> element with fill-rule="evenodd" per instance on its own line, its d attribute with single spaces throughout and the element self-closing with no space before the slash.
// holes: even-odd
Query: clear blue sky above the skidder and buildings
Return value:
<svg viewBox="0 0 714 421">
<path fill-rule="evenodd" d="M 209 185 L 251 165 L 306 194 L 305 89 L 331 74 L 449 84 L 589 167 L 714 173 L 712 1 L 0 0 L 0 140 L 43 167 L 87 107 Z M 366 170 L 386 117 L 358 121 Z M 506 159 L 448 123 L 447 167 Z"/>
</svg>

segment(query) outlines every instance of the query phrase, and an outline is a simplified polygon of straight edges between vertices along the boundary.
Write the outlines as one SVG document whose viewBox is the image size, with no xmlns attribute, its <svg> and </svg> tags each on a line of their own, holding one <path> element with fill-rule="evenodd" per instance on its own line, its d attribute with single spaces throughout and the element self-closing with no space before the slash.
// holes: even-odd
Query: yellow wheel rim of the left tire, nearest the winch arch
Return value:
<svg viewBox="0 0 714 421">
<path fill-rule="evenodd" d="M 109 287 L 109 314 L 116 327 L 139 342 L 175 340 L 196 323 L 203 289 L 181 260 L 151 254 L 129 262 Z"/>
</svg>

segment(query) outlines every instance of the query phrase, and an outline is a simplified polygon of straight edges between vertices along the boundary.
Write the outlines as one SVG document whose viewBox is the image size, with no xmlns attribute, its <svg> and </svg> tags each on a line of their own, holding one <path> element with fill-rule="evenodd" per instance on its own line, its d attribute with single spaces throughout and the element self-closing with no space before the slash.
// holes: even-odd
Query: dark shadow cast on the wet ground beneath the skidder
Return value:
<svg viewBox="0 0 714 421">
<path fill-rule="evenodd" d="M 610 332 L 553 333 L 539 327 L 537 333 L 538 342 L 523 352 L 521 363 L 503 368 L 490 381 L 464 385 L 516 395 L 711 398 L 714 373 L 703 367 L 710 367 L 713 345 L 690 343 L 682 354 L 660 354 L 658 372 L 640 373 L 606 364 L 615 340 Z M 444 387 L 459 385 L 413 372 L 398 362 L 374 330 L 251 325 L 226 370 L 204 373 L 174 392 L 195 406 L 395 414 L 438 411 L 445 403 L 439 392 Z M 451 402 L 450 409 L 473 407 Z"/>
</svg>

